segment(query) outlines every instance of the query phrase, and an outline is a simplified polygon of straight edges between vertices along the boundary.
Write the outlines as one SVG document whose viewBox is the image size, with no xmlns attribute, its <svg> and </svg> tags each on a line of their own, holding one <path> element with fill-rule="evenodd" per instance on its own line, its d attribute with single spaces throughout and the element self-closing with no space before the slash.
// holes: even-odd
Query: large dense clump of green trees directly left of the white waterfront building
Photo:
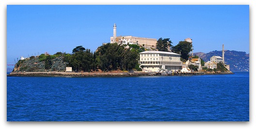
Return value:
<svg viewBox="0 0 256 130">
<path fill-rule="evenodd" d="M 138 53 L 142 51 L 140 46 L 133 44 L 129 44 L 129 49 L 116 43 L 105 44 L 97 49 L 96 63 L 103 71 L 131 70 L 138 63 Z"/>
</svg>

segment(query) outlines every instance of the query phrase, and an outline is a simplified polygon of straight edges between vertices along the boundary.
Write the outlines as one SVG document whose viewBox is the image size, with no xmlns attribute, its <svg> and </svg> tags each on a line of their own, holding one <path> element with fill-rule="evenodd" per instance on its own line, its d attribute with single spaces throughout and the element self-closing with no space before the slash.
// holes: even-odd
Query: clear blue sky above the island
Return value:
<svg viewBox="0 0 256 130">
<path fill-rule="evenodd" d="M 249 53 L 249 5 L 7 5 L 7 63 L 44 52 L 96 51 L 117 36 L 191 38 L 193 52 Z"/>
</svg>

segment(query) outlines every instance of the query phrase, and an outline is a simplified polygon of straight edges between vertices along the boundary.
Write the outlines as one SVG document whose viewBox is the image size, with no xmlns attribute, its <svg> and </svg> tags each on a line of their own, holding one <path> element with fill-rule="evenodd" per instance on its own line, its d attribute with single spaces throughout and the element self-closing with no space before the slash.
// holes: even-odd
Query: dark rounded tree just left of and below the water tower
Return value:
<svg viewBox="0 0 256 130">
<path fill-rule="evenodd" d="M 192 43 L 187 41 L 179 41 L 176 46 L 172 47 L 172 52 L 181 54 L 181 58 L 188 60 L 190 55 L 189 52 L 192 51 Z"/>
</svg>

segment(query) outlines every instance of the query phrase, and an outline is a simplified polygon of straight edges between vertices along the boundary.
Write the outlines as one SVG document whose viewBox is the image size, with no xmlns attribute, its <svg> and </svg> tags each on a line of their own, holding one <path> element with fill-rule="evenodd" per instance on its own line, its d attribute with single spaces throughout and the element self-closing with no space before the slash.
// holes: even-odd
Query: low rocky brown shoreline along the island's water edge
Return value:
<svg viewBox="0 0 256 130">
<path fill-rule="evenodd" d="M 234 74 L 232 72 L 224 73 L 204 73 L 203 75 Z M 138 76 L 156 76 L 155 73 L 147 72 L 12 72 L 7 76 L 14 77 L 138 77 Z M 163 76 L 163 75 L 162 75 Z"/>
</svg>

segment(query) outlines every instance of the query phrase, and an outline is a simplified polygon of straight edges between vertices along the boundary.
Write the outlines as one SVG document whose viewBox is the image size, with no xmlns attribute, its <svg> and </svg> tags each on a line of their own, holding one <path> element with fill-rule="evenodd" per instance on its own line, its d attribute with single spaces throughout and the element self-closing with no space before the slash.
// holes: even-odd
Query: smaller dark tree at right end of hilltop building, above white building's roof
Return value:
<svg viewBox="0 0 256 130">
<path fill-rule="evenodd" d="M 172 47 L 172 41 L 170 39 L 158 39 L 157 49 L 158 51 L 168 52 L 168 48 Z"/>
</svg>

